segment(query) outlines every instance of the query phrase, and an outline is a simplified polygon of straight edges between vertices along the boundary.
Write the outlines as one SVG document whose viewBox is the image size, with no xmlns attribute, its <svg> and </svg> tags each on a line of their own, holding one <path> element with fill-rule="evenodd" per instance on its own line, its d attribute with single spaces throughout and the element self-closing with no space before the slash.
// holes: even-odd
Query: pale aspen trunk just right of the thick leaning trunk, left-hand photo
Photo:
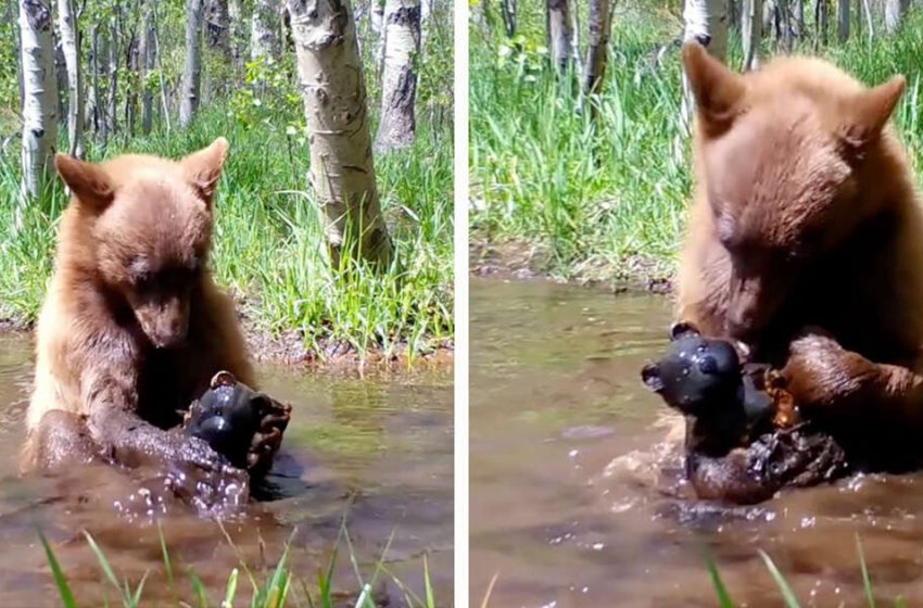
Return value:
<svg viewBox="0 0 923 608">
<path fill-rule="evenodd" d="M 417 69 L 420 51 L 419 0 L 388 0 L 384 5 L 384 69 L 381 76 L 381 123 L 375 150 L 387 152 L 414 143 L 417 123 Z"/>
</svg>

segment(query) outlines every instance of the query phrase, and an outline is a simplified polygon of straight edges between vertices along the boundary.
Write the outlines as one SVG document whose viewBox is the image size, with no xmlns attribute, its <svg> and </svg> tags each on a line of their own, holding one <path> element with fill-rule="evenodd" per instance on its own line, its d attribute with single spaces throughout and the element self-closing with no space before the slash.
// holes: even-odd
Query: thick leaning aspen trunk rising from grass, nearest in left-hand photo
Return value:
<svg viewBox="0 0 923 608">
<path fill-rule="evenodd" d="M 365 78 L 349 0 L 288 0 L 304 113 L 311 183 L 324 210 L 334 268 L 344 239 L 387 266 L 391 239 L 378 199 Z"/>
</svg>

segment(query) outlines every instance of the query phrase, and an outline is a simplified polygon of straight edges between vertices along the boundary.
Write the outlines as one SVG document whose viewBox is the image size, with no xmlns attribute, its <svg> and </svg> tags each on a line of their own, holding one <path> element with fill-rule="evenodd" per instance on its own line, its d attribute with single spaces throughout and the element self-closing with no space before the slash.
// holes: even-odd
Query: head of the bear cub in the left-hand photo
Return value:
<svg viewBox="0 0 923 608">
<path fill-rule="evenodd" d="M 73 193 L 76 265 L 131 309 L 156 349 L 186 339 L 190 299 L 206 271 L 213 198 L 227 150 L 227 140 L 218 138 L 180 161 L 54 159 Z"/>
</svg>

